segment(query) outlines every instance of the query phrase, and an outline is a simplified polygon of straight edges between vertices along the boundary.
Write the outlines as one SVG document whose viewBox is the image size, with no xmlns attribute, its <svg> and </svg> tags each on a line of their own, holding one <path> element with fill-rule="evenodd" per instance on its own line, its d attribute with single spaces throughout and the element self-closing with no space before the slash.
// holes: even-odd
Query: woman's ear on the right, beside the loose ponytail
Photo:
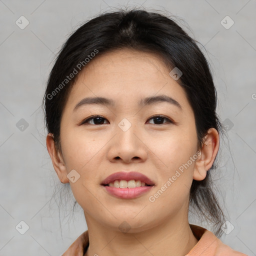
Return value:
<svg viewBox="0 0 256 256">
<path fill-rule="evenodd" d="M 200 156 L 196 159 L 193 179 L 203 180 L 207 170 L 212 166 L 219 147 L 219 135 L 215 128 L 210 128 L 203 138 L 204 142 Z"/>
</svg>

